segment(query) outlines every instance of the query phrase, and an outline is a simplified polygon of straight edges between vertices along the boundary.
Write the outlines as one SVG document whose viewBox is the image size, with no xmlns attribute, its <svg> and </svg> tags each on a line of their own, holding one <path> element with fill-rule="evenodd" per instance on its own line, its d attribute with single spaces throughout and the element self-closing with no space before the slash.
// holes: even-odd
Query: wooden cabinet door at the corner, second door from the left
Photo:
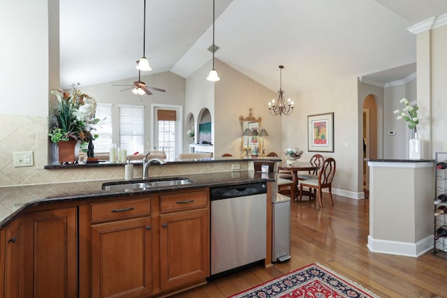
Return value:
<svg viewBox="0 0 447 298">
<path fill-rule="evenodd" d="M 76 207 L 27 214 L 25 226 L 25 297 L 77 297 Z"/>
</svg>

